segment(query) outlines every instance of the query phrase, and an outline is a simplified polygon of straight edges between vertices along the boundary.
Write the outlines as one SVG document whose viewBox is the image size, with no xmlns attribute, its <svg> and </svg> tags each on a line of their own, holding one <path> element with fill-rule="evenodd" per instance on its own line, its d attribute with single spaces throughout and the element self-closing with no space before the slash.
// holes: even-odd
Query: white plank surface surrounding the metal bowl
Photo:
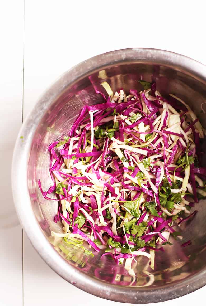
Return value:
<svg viewBox="0 0 206 306">
<path fill-rule="evenodd" d="M 123 306 L 85 293 L 55 274 L 17 225 L 12 150 L 22 117 L 60 74 L 122 48 L 171 50 L 206 63 L 202 1 L 7 0 L 0 9 L 0 306 Z M 22 191 L 23 194 L 23 191 Z M 23 209 L 23 207 L 22 207 Z M 206 288 L 162 306 L 201 304 Z M 156 304 L 154 304 L 156 305 Z"/>
</svg>

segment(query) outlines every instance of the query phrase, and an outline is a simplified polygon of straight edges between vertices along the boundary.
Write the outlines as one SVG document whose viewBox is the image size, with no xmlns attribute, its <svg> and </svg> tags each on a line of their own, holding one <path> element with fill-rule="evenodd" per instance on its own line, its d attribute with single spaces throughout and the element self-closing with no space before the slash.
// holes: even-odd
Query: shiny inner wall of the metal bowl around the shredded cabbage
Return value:
<svg viewBox="0 0 206 306">
<path fill-rule="evenodd" d="M 101 71 L 100 71 L 101 70 Z M 54 216 L 57 213 L 58 202 L 45 200 L 42 196 L 37 180 L 40 179 L 43 190 L 47 190 L 52 181 L 49 174 L 48 145 L 62 136 L 68 134 L 72 123 L 78 118 L 82 106 L 101 103 L 104 101 L 95 90 L 101 89 L 101 82 L 110 84 L 113 91 L 124 88 L 126 92 L 130 88 L 141 90 L 138 80 L 156 82 L 157 89 L 163 96 L 173 93 L 188 103 L 197 114 L 200 122 L 206 128 L 205 115 L 200 105 L 206 99 L 205 83 L 197 80 L 195 76 L 180 68 L 172 68 L 167 65 L 149 62 L 123 62 L 101 67 L 98 71 L 85 74 L 64 90 L 55 98 L 49 109 L 38 125 L 32 140 L 28 161 L 28 188 L 32 209 L 36 219 L 47 239 L 54 244 L 59 256 L 63 256 L 68 265 L 83 271 L 92 278 L 98 278 L 101 282 L 112 283 L 120 286 L 149 287 L 155 289 L 166 284 L 181 282 L 183 279 L 205 269 L 206 262 L 206 231 L 205 218 L 206 202 L 200 200 L 194 209 L 198 210 L 195 218 L 183 223 L 179 231 L 182 232 L 182 242 L 191 240 L 192 244 L 181 248 L 178 241 L 171 240 L 173 245 L 165 245 L 165 252 L 156 252 L 154 271 L 149 266 L 146 257 L 139 256 L 137 263 L 133 263 L 136 279 L 132 278 L 124 269 L 124 264 L 116 266 L 108 256 L 94 252 L 92 258 L 85 255 L 82 249 L 71 245 L 69 258 L 58 248 L 63 238 L 51 237 L 51 231 L 61 233 L 63 224 L 55 223 Z M 66 80 L 67 81 L 67 80 Z M 68 80 L 69 83 L 69 80 Z M 204 144 L 202 144 L 204 147 Z M 50 195 L 51 198 L 54 195 Z"/>
</svg>

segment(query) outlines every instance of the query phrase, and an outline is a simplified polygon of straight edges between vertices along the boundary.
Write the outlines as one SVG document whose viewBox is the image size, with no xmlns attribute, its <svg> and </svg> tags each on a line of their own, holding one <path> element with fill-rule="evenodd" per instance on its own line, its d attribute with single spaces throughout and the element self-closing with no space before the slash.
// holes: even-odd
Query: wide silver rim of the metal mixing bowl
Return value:
<svg viewBox="0 0 206 306">
<path fill-rule="evenodd" d="M 13 199 L 18 218 L 33 247 L 42 259 L 69 283 L 97 297 L 124 303 L 154 303 L 191 293 L 206 285 L 206 269 L 180 282 L 157 286 L 155 289 L 149 289 L 150 287 L 122 287 L 113 285 L 78 271 L 75 267 L 68 265 L 67 261 L 55 251 L 39 226 L 29 197 L 27 165 L 36 128 L 48 107 L 54 103 L 65 88 L 72 86 L 77 80 L 90 75 L 95 70 L 102 70 L 102 68 L 109 65 L 128 62 L 153 63 L 154 61 L 157 64 L 187 72 L 188 75 L 200 82 L 203 82 L 203 80 L 206 82 L 205 65 L 192 58 L 166 50 L 131 48 L 114 50 L 94 56 L 67 70 L 44 92 L 23 122 L 13 151 Z M 21 135 L 24 137 L 23 142 L 20 139 Z M 24 191 L 24 197 L 22 197 L 21 190 Z M 23 206 L 24 209 L 22 209 Z"/>
</svg>

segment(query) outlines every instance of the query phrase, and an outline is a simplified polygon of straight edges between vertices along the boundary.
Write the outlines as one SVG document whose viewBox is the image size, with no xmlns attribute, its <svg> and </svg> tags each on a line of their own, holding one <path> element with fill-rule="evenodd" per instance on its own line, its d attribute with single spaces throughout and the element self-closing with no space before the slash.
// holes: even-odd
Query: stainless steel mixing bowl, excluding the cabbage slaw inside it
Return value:
<svg viewBox="0 0 206 306">
<path fill-rule="evenodd" d="M 105 71 L 99 74 L 101 70 Z M 41 180 L 44 190 L 48 189 L 47 146 L 67 134 L 82 106 L 102 101 L 101 95 L 95 94 L 95 86 L 98 89 L 105 80 L 113 90 L 140 89 L 140 79 L 155 81 L 162 95 L 174 93 L 184 99 L 206 128 L 205 115 L 200 112 L 200 104 L 206 99 L 204 65 L 164 50 L 117 50 L 73 67 L 44 93 L 21 128 L 19 136 L 24 139 L 17 139 L 12 166 L 13 197 L 19 219 L 45 262 L 88 293 L 132 304 L 174 299 L 206 284 L 205 201 L 196 205 L 195 218 L 181 226 L 183 242 L 190 239 L 192 244 L 181 248 L 174 241 L 172 246 L 165 246 L 164 253 L 156 253 L 154 271 L 140 256 L 134 267 L 137 281 L 132 284 L 124 267 L 116 266 L 109 258 L 101 261 L 100 255 L 95 255 L 82 268 L 53 247 L 51 230 L 61 232 L 60 222 L 53 222 L 57 202 L 43 198 L 37 180 Z"/>
</svg>

